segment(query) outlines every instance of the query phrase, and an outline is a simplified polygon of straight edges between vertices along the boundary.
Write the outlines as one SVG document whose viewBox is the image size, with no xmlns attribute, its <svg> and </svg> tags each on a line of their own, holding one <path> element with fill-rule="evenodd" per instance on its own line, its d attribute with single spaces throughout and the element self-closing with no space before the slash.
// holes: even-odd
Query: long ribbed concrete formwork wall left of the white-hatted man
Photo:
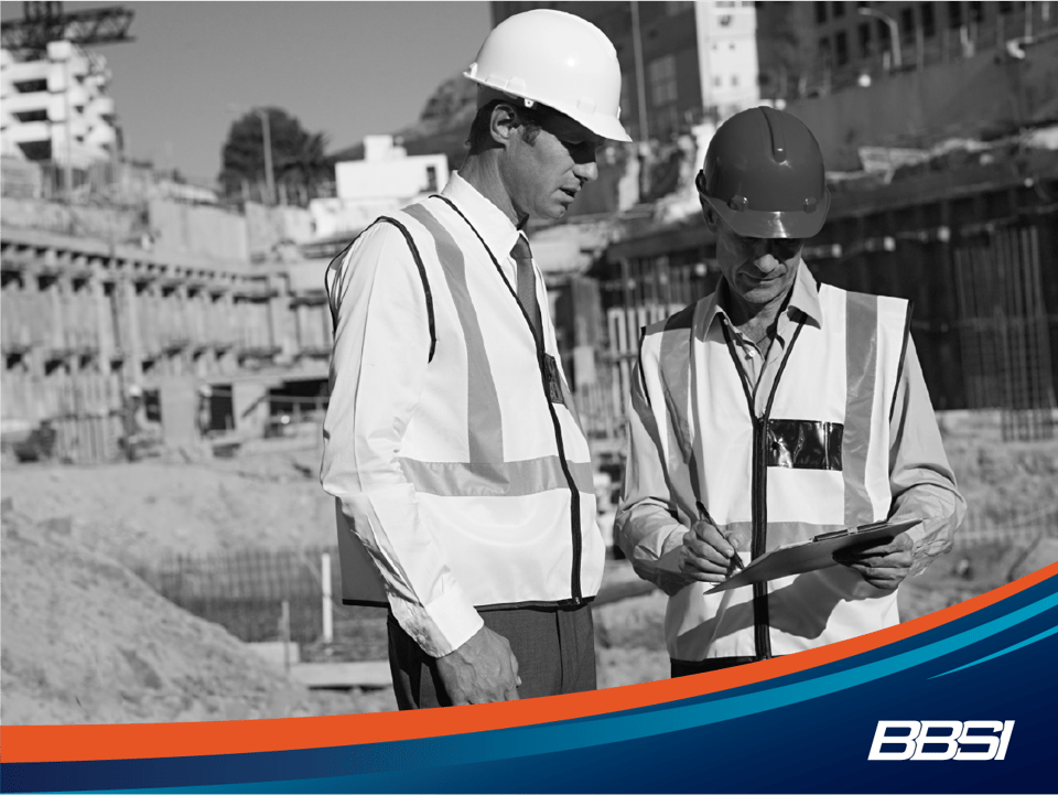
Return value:
<svg viewBox="0 0 1058 795">
<path fill-rule="evenodd" d="M 133 384 L 158 396 L 166 441 L 183 443 L 199 433 L 199 386 L 251 376 L 235 426 L 258 432 L 262 395 L 325 377 L 330 345 L 322 287 L 293 293 L 282 272 L 0 229 L 0 419 L 69 426 L 89 440 L 72 460 L 112 455 Z"/>
</svg>

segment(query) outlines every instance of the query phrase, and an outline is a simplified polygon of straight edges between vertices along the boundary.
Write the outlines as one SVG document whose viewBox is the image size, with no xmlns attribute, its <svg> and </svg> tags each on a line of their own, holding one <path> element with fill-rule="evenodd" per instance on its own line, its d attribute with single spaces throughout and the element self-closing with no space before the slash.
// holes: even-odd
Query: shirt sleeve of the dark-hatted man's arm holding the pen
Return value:
<svg viewBox="0 0 1058 795">
<path fill-rule="evenodd" d="M 665 473 L 658 418 L 647 398 L 645 378 L 651 370 L 637 363 L 631 375 L 628 411 L 628 458 L 614 538 L 640 578 L 668 594 L 687 584 L 679 571 L 683 527 Z"/>
</svg>

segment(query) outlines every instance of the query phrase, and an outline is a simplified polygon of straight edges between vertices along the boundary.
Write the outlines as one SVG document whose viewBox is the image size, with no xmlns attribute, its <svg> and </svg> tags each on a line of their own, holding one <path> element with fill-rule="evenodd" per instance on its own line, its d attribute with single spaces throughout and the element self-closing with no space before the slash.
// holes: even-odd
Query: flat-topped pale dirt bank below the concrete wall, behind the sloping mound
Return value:
<svg viewBox="0 0 1058 795">
<path fill-rule="evenodd" d="M 4 471 L 0 496 L 34 522 L 68 517 L 74 540 L 129 566 L 173 554 L 330 546 L 334 502 L 303 458 L 15 466 Z"/>
</svg>

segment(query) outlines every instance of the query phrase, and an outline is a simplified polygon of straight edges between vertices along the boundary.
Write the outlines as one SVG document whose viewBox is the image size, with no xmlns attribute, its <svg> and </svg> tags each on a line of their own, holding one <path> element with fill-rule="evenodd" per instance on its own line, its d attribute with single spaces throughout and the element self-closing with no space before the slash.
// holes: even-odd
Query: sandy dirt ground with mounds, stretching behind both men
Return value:
<svg viewBox="0 0 1058 795">
<path fill-rule="evenodd" d="M 1058 505 L 1058 441 L 1007 443 L 994 418 L 942 420 L 971 508 L 1002 524 Z M 392 691 L 309 691 L 131 572 L 176 552 L 334 542 L 319 452 L 74 468 L 2 465 L 0 689 L 6 724 L 233 720 L 395 709 Z M 1008 581 L 1035 540 L 957 549 L 902 588 L 906 620 Z M 965 563 L 961 561 L 965 559 Z M 1018 573 L 1025 573 L 1024 570 Z M 608 581 L 634 581 L 614 562 Z M 668 676 L 665 597 L 595 610 L 598 684 Z"/>
</svg>

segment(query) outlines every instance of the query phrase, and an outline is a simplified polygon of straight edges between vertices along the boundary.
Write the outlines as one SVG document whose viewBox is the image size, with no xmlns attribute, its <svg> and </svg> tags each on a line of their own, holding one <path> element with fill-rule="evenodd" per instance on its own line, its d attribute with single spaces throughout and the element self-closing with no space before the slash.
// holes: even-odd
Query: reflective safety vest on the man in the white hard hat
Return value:
<svg viewBox="0 0 1058 795">
<path fill-rule="evenodd" d="M 422 281 L 430 357 L 399 463 L 453 576 L 478 609 L 591 600 L 605 548 L 548 312 L 537 340 L 496 259 L 507 253 L 490 251 L 446 197 L 376 223 L 401 232 Z M 355 248 L 352 257 L 346 267 Z M 375 563 L 335 507 L 343 601 L 386 605 Z"/>
</svg>

